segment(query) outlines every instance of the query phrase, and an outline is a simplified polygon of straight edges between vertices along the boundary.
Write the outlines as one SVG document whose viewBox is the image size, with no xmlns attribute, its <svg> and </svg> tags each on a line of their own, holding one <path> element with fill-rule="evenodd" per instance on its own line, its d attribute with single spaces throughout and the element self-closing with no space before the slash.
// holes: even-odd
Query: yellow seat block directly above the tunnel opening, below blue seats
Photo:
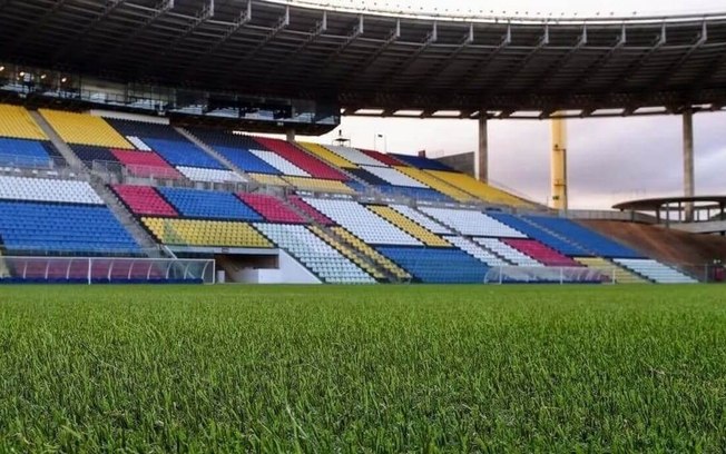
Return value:
<svg viewBox="0 0 726 454">
<path fill-rule="evenodd" d="M 166 245 L 273 247 L 267 238 L 247 223 L 168 218 L 143 218 L 141 221 Z"/>
</svg>

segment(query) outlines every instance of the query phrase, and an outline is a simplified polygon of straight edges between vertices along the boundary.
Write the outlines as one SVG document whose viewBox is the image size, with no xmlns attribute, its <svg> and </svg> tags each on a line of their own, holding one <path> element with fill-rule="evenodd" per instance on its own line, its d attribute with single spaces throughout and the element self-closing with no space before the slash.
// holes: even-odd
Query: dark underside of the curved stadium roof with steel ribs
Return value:
<svg viewBox="0 0 726 454">
<path fill-rule="evenodd" d="M 726 105 L 726 13 L 531 19 L 261 0 L 0 0 L 0 61 L 337 100 L 346 115 L 547 118 Z"/>
</svg>

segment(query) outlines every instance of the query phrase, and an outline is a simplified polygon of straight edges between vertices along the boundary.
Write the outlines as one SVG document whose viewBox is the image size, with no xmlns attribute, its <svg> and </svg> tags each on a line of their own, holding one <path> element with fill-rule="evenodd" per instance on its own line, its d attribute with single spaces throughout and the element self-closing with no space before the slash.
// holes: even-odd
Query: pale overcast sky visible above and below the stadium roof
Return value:
<svg viewBox="0 0 726 454">
<path fill-rule="evenodd" d="M 310 0 L 308 0 L 310 1 Z M 616 16 L 724 11 L 724 0 L 322 0 L 351 6 L 376 2 L 393 8 L 410 6 L 501 11 L 540 11 L 578 17 L 597 12 Z M 546 8 L 546 9 L 544 9 Z M 605 9 L 602 9 L 605 8 Z M 387 147 L 391 152 L 429 156 L 472 151 L 477 146 L 477 122 L 472 120 L 414 120 L 344 117 L 341 128 L 354 147 Z M 339 130 L 315 141 L 330 142 Z M 694 116 L 696 193 L 726 193 L 726 112 Z M 683 193 L 681 119 L 676 116 L 583 119 L 568 121 L 570 206 L 609 208 L 630 198 Z M 550 126 L 539 120 L 489 121 L 490 178 L 530 198 L 549 200 Z"/>
</svg>

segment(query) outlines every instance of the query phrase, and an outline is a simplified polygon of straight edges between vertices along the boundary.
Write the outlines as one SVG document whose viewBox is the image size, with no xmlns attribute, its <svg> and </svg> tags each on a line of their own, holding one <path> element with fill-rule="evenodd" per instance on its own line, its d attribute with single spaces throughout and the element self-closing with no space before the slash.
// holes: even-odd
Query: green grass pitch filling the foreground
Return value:
<svg viewBox="0 0 726 454">
<path fill-rule="evenodd" d="M 0 452 L 716 452 L 725 290 L 0 287 Z"/>
</svg>

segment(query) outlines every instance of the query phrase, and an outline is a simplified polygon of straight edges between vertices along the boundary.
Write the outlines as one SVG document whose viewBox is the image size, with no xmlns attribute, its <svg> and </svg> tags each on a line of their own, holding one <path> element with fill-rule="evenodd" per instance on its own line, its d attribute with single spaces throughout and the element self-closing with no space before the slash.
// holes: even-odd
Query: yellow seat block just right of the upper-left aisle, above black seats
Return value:
<svg viewBox="0 0 726 454">
<path fill-rule="evenodd" d="M 68 144 L 135 149 L 101 117 L 50 109 L 40 109 L 39 111 L 60 138 Z"/>
</svg>

